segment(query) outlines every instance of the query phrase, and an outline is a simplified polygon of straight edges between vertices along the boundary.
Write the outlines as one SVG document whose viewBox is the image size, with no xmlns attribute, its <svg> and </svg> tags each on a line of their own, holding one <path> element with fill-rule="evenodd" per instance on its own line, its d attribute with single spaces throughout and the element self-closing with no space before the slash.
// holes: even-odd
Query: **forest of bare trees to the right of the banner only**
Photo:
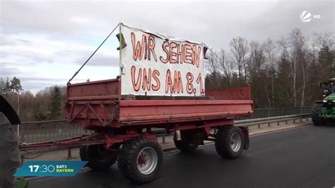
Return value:
<svg viewBox="0 0 335 188">
<path fill-rule="evenodd" d="M 308 39 L 294 29 L 280 40 L 236 37 L 229 49 L 211 50 L 206 88 L 250 86 L 254 107 L 299 107 L 322 99 L 319 81 L 335 76 L 334 35 Z"/>
</svg>

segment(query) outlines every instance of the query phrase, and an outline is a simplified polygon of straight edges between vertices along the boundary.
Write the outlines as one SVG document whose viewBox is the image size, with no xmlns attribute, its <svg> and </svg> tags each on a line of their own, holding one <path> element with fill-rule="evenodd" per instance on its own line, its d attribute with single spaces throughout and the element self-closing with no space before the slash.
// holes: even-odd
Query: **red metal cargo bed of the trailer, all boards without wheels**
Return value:
<svg viewBox="0 0 335 188">
<path fill-rule="evenodd" d="M 212 93 L 215 99 L 233 98 L 234 95 L 239 100 L 121 100 L 120 83 L 112 79 L 69 85 L 65 109 L 69 122 L 93 127 L 122 127 L 227 119 L 253 112 L 249 87 Z"/>
</svg>

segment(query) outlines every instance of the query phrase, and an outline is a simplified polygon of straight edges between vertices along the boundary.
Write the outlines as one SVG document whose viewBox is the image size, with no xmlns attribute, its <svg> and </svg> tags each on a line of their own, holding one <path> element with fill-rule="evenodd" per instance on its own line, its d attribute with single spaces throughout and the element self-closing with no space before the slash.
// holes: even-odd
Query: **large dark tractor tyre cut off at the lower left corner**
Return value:
<svg viewBox="0 0 335 188">
<path fill-rule="evenodd" d="M 20 165 L 20 154 L 18 151 L 18 139 L 10 122 L 0 112 L 0 187 L 16 187 L 16 168 Z"/>
</svg>

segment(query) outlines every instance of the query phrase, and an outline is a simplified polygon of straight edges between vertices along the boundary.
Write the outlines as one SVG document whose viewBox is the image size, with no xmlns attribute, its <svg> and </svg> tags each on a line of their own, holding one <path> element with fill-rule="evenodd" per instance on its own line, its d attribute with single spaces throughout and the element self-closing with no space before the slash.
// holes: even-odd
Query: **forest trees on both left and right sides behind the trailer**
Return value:
<svg viewBox="0 0 335 188">
<path fill-rule="evenodd" d="M 319 81 L 335 76 L 333 33 L 307 38 L 294 29 L 280 40 L 233 38 L 228 49 L 210 49 L 205 61 L 206 88 L 250 86 L 254 108 L 299 107 L 322 99 Z M 33 95 L 20 78 L 0 78 L 0 94 L 18 111 L 21 121 L 64 119 L 65 86 Z"/>
</svg>

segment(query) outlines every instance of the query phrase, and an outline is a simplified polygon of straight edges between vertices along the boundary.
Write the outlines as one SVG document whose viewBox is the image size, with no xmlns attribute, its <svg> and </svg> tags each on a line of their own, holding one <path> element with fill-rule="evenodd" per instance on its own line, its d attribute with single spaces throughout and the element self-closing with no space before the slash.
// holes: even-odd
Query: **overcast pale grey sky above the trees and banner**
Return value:
<svg viewBox="0 0 335 188">
<path fill-rule="evenodd" d="M 278 40 L 293 28 L 307 37 L 335 32 L 334 1 L 1 1 L 0 77 L 17 76 L 24 90 L 64 86 L 112 28 L 126 25 L 228 48 L 237 36 Z M 320 15 L 309 23 L 300 13 Z M 116 33 L 115 33 L 116 34 Z M 112 35 L 74 82 L 119 74 Z"/>
</svg>

